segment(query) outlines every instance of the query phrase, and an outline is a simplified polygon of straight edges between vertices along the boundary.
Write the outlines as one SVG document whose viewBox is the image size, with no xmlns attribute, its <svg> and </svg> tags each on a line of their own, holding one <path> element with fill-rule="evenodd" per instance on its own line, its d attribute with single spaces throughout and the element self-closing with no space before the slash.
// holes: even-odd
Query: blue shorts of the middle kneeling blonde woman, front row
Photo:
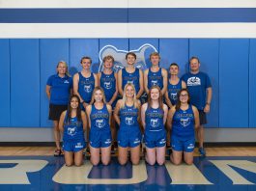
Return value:
<svg viewBox="0 0 256 191">
<path fill-rule="evenodd" d="M 117 135 L 118 146 L 122 148 L 135 148 L 141 143 L 139 126 L 121 127 Z"/>
</svg>

